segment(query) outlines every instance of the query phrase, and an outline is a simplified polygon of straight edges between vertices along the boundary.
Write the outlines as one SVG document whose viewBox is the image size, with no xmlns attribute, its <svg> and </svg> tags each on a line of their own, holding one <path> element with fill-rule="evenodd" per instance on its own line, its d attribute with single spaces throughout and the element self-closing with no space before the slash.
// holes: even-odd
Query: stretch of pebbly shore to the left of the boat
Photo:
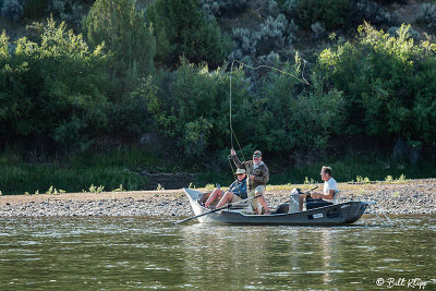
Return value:
<svg viewBox="0 0 436 291">
<path fill-rule="evenodd" d="M 2 203 L 0 217 L 86 217 L 86 216 L 189 216 L 192 210 L 181 191 L 171 194 L 130 192 L 62 195 L 15 196 Z M 118 197 L 120 196 L 120 197 Z"/>
</svg>

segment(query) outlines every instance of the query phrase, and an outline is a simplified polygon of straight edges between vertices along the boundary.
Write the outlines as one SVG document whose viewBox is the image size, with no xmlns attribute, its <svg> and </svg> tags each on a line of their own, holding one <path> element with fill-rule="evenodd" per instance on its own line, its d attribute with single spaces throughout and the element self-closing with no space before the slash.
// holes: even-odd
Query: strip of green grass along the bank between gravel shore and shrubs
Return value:
<svg viewBox="0 0 436 291">
<path fill-rule="evenodd" d="M 398 179 L 435 178 L 435 162 L 424 160 L 410 167 L 407 162 L 392 161 L 380 156 L 336 157 L 315 161 L 303 167 L 287 167 L 266 160 L 271 170 L 269 184 L 302 184 L 322 182 L 320 168 L 326 165 L 334 170 L 338 182 L 385 181 Z M 177 161 L 161 157 L 140 147 L 124 147 L 111 150 L 94 150 L 57 160 L 29 162 L 11 151 L 0 156 L 0 191 L 2 194 L 46 193 L 55 189 L 65 192 L 144 190 L 148 178 L 143 171 L 183 172 L 190 169 L 178 166 Z M 194 185 L 220 183 L 228 185 L 234 178 L 230 167 L 220 172 L 204 172 L 196 175 Z"/>
</svg>

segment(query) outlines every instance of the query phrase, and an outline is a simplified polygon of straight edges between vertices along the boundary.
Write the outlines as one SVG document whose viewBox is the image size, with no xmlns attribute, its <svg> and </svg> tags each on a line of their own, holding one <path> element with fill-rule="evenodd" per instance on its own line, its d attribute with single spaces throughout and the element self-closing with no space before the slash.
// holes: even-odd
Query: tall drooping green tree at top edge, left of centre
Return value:
<svg viewBox="0 0 436 291">
<path fill-rule="evenodd" d="M 105 41 L 113 53 L 110 69 L 117 83 L 114 96 L 129 93 L 140 77 L 154 72 L 153 28 L 135 10 L 134 0 L 97 0 L 83 20 L 83 28 L 93 46 Z"/>
</svg>

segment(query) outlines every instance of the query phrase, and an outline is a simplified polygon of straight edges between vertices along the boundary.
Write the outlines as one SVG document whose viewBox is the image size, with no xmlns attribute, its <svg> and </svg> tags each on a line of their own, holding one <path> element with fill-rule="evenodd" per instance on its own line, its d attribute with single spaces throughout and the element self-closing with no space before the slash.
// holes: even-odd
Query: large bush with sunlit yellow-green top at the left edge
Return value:
<svg viewBox="0 0 436 291">
<path fill-rule="evenodd" d="M 0 36 L 1 140 L 86 145 L 107 121 L 107 57 L 52 19 L 40 39 L 21 38 L 10 51 Z"/>
</svg>

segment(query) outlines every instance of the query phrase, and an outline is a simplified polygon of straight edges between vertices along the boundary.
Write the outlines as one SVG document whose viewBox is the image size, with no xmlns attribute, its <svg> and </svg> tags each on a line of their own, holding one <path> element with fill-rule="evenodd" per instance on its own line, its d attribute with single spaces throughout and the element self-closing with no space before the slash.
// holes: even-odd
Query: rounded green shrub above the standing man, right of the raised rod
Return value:
<svg viewBox="0 0 436 291">
<path fill-rule="evenodd" d="M 300 62 L 284 71 L 300 75 Z M 331 134 L 342 129 L 342 93 L 328 88 L 317 75 L 303 88 L 295 77 L 271 72 L 255 104 L 258 123 L 253 129 L 257 143 L 269 151 L 289 153 L 293 148 L 326 148 Z M 253 141 L 254 142 L 254 141 Z"/>
</svg>

